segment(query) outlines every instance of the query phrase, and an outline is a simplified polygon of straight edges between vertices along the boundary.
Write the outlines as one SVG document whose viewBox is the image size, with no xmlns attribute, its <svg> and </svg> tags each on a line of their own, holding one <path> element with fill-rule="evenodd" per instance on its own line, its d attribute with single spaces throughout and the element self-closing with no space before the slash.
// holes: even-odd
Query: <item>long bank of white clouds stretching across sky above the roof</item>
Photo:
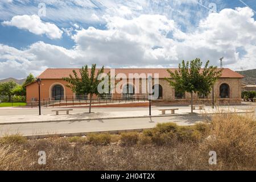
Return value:
<svg viewBox="0 0 256 182">
<path fill-rule="evenodd" d="M 46 67 L 74 68 L 92 63 L 106 67 L 177 67 L 181 60 L 196 57 L 219 65 L 218 59 L 224 56 L 224 67 L 255 68 L 256 22 L 252 16 L 247 7 L 224 9 L 201 20 L 190 33 L 181 32 L 174 20 L 163 15 L 132 19 L 104 16 L 106 30 L 76 30 L 72 49 L 43 42 L 24 50 L 0 45 L 0 78 L 24 77 Z"/>
</svg>

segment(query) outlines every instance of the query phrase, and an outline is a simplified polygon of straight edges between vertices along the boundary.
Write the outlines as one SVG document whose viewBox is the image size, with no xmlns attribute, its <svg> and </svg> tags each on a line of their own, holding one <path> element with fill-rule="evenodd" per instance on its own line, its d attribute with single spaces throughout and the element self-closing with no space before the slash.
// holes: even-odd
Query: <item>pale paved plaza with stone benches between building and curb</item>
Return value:
<svg viewBox="0 0 256 182">
<path fill-rule="evenodd" d="M 171 111 L 162 114 L 159 109 L 179 108 L 175 111 L 175 115 L 190 114 L 191 108 L 188 106 L 165 106 L 151 107 L 152 117 L 173 116 Z M 251 107 L 252 108 L 252 107 Z M 59 115 L 55 115 L 52 109 L 42 109 L 42 115 L 38 115 L 38 109 L 16 108 L 16 109 L 0 109 L 0 124 L 3 123 L 28 123 L 28 122 L 58 122 L 58 121 L 83 121 L 92 119 L 123 119 L 123 118 L 143 118 L 148 117 L 148 107 L 109 107 L 109 108 L 92 108 L 93 113 L 88 113 L 88 108 L 71 108 L 70 114 L 61 111 Z M 243 113 L 250 111 L 250 107 L 245 106 L 220 106 L 212 109 L 206 106 L 204 110 L 194 110 L 196 114 L 212 114 L 212 113 Z"/>
</svg>

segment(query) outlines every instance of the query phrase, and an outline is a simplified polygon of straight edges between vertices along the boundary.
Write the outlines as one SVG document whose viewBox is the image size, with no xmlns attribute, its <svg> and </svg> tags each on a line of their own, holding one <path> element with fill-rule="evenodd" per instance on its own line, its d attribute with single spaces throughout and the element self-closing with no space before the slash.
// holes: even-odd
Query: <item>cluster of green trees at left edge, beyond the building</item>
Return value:
<svg viewBox="0 0 256 182">
<path fill-rule="evenodd" d="M 34 76 L 30 73 L 22 85 L 18 85 L 14 81 L 2 82 L 0 83 L 0 96 L 7 97 L 9 102 L 13 96 L 26 96 L 25 85 L 34 80 Z"/>
</svg>

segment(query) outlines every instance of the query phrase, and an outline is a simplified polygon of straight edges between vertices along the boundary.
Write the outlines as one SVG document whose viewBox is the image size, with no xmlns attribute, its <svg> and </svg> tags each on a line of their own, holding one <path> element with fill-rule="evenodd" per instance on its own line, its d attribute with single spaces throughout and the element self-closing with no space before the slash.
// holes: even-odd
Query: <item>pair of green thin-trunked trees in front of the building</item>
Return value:
<svg viewBox="0 0 256 182">
<path fill-rule="evenodd" d="M 212 86 L 222 73 L 222 69 L 209 66 L 209 60 L 205 64 L 203 70 L 201 70 L 202 65 L 203 62 L 200 59 L 187 61 L 186 63 L 183 60 L 182 63 L 179 64 L 179 69 L 175 72 L 167 70 L 170 73 L 170 77 L 166 78 L 166 80 L 175 88 L 175 90 L 178 92 L 191 93 L 191 113 L 193 113 L 193 93 L 208 95 Z M 96 73 L 96 64 L 92 65 L 89 72 L 88 65 L 85 65 L 80 69 L 81 78 L 77 75 L 75 70 L 73 70 L 73 75 L 70 74 L 69 77 L 63 78 L 63 80 L 68 82 L 67 86 L 71 88 L 73 92 L 89 95 L 89 113 L 91 113 L 92 95 L 99 94 L 97 86 L 100 81 L 97 80 L 97 77 L 103 72 L 104 67 L 99 69 Z"/>
</svg>

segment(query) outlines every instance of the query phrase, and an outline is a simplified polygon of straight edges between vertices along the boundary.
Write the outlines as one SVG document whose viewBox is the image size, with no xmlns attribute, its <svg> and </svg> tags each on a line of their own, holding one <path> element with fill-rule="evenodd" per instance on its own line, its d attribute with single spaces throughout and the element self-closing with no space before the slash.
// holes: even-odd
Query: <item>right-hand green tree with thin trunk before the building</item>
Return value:
<svg viewBox="0 0 256 182">
<path fill-rule="evenodd" d="M 177 92 L 191 93 L 191 113 L 193 113 L 193 93 L 208 95 L 214 83 L 221 76 L 222 69 L 209 66 L 209 60 L 202 70 L 203 62 L 196 58 L 195 60 L 183 60 L 179 64 L 179 69 L 175 72 L 167 69 L 170 78 L 165 78 Z"/>
</svg>

